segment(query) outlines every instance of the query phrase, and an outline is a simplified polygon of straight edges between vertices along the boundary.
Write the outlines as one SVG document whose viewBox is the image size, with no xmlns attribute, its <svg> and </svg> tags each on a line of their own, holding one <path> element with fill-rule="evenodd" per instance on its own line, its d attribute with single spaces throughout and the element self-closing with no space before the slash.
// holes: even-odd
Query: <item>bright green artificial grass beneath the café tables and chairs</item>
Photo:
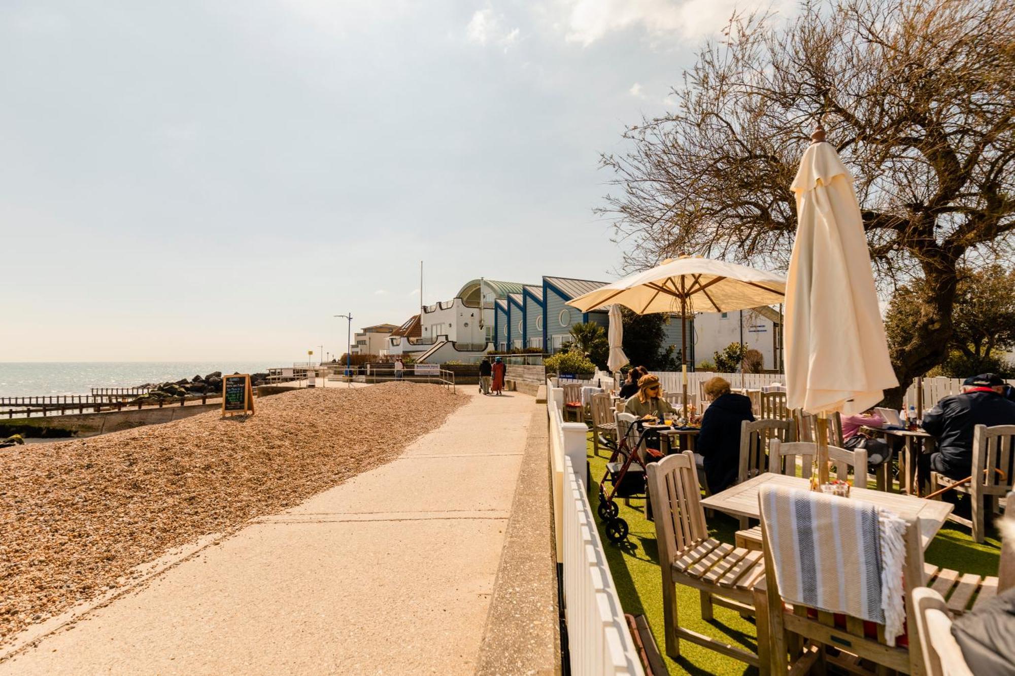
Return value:
<svg viewBox="0 0 1015 676">
<path fill-rule="evenodd" d="M 599 504 L 599 480 L 606 471 L 608 451 L 593 454 L 592 435 L 589 435 L 588 457 L 592 470 L 592 484 L 589 486 L 589 501 L 593 512 Z M 606 550 L 606 560 L 617 587 L 617 596 L 625 613 L 645 615 L 652 627 L 659 652 L 666 660 L 670 674 L 756 674 L 757 669 L 749 667 L 715 651 L 702 648 L 688 640 L 680 641 L 680 659 L 671 660 L 666 655 L 663 637 L 663 587 L 659 569 L 659 551 L 656 547 L 656 526 L 645 518 L 645 500 L 632 498 L 630 506 L 622 498 L 616 500 L 619 516 L 630 529 L 627 542 L 614 545 L 606 538 L 604 526 L 595 515 L 600 538 Z M 733 542 L 734 533 L 740 522 L 732 517 L 716 513 L 708 520 L 708 533 L 718 540 Z M 1000 542 L 996 537 L 988 537 L 978 545 L 972 541 L 968 529 L 946 524 L 925 553 L 927 561 L 942 567 L 980 576 L 996 576 L 1000 560 Z M 677 617 L 680 626 L 719 638 L 744 650 L 757 651 L 757 633 L 754 620 L 744 619 L 736 611 L 714 606 L 715 620 L 701 619 L 698 592 L 690 587 L 677 586 Z"/>
</svg>

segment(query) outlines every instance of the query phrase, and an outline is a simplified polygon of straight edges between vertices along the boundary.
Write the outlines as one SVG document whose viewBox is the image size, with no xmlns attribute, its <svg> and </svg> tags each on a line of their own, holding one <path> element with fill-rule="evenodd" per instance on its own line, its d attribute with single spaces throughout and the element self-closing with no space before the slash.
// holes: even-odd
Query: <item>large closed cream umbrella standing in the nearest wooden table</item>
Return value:
<svg viewBox="0 0 1015 676">
<path fill-rule="evenodd" d="M 820 125 L 811 138 L 792 185 L 798 224 L 786 291 L 786 399 L 821 420 L 866 411 L 898 381 L 853 177 Z M 823 429 L 818 437 L 827 444 Z M 819 470 L 824 482 L 827 463 Z"/>
</svg>

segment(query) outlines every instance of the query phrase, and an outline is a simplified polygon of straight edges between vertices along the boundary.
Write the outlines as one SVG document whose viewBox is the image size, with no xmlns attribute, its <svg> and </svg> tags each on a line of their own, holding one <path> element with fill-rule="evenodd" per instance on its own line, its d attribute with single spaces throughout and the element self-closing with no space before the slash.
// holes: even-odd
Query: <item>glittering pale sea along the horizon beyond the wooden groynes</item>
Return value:
<svg viewBox="0 0 1015 676">
<path fill-rule="evenodd" d="M 91 388 L 130 388 L 223 374 L 258 374 L 289 366 L 263 361 L 0 361 L 0 397 L 83 395 Z"/>
</svg>

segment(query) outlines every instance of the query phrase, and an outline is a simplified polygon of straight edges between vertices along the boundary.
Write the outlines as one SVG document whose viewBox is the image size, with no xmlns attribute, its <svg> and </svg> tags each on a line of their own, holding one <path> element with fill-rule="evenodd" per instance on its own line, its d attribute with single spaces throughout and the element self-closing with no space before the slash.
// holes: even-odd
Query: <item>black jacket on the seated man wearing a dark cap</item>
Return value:
<svg viewBox="0 0 1015 676">
<path fill-rule="evenodd" d="M 949 474 L 958 478 L 972 471 L 973 427 L 1011 424 L 1015 424 L 1015 402 L 996 392 L 951 395 L 924 415 L 924 430 L 938 438 Z"/>
</svg>

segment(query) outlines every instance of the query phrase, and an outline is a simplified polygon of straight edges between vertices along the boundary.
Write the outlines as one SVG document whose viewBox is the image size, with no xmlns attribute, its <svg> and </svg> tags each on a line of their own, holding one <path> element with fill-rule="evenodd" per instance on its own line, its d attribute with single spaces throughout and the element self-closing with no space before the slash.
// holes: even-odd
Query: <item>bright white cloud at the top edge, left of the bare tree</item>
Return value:
<svg viewBox="0 0 1015 676">
<path fill-rule="evenodd" d="M 567 42 L 589 46 L 615 30 L 697 39 L 722 30 L 734 11 L 793 11 L 792 0 L 559 0 Z"/>
</svg>

